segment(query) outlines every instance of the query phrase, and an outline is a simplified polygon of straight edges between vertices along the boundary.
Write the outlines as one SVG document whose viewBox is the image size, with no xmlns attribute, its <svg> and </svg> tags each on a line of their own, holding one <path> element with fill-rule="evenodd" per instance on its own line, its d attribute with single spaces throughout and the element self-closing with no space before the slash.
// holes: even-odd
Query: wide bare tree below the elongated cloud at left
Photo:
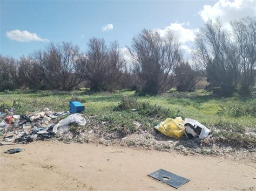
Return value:
<svg viewBox="0 0 256 191">
<path fill-rule="evenodd" d="M 43 80 L 50 89 L 72 90 L 83 81 L 78 72 L 78 46 L 71 43 L 53 44 L 36 53 Z"/>
</svg>

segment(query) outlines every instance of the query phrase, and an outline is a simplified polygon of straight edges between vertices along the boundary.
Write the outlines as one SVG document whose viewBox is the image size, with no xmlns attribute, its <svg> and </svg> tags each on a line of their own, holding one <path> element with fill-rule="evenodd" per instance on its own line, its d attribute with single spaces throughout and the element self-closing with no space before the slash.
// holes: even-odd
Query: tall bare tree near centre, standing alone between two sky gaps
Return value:
<svg viewBox="0 0 256 191">
<path fill-rule="evenodd" d="M 156 95 L 174 86 L 175 70 L 182 55 L 178 40 L 171 31 L 161 37 L 157 30 L 144 29 L 132 39 L 129 50 L 137 61 L 134 70 L 143 81 L 144 93 Z"/>
</svg>

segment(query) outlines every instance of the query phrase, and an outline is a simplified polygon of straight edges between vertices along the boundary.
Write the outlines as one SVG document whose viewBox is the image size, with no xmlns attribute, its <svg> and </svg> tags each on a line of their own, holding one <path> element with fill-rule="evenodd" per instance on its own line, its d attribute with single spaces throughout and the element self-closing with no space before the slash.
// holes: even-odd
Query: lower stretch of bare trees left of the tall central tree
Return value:
<svg viewBox="0 0 256 191">
<path fill-rule="evenodd" d="M 51 43 L 17 61 L 0 56 L 0 87 L 69 91 L 86 81 L 91 90 L 109 90 L 117 85 L 124 65 L 117 42 L 107 47 L 104 39 L 92 38 L 86 53 L 71 43 Z"/>
</svg>

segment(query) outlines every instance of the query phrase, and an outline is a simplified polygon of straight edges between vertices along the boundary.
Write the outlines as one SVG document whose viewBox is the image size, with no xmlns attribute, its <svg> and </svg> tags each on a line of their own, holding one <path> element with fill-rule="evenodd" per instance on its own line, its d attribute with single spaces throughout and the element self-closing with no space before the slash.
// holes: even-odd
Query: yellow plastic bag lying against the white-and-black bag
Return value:
<svg viewBox="0 0 256 191">
<path fill-rule="evenodd" d="M 185 126 L 181 117 L 167 118 L 156 129 L 168 137 L 180 138 L 184 135 Z"/>
</svg>

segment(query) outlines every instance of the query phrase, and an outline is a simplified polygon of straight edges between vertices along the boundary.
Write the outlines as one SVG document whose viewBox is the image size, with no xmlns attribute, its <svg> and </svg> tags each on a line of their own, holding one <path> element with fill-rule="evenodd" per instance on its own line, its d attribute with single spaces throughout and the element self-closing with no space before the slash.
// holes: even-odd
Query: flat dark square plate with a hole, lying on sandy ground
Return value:
<svg viewBox="0 0 256 191">
<path fill-rule="evenodd" d="M 158 171 L 149 174 L 149 176 L 161 182 L 167 183 L 167 185 L 174 188 L 179 188 L 180 186 L 190 181 L 181 176 L 165 171 L 164 169 L 159 169 Z"/>
</svg>

